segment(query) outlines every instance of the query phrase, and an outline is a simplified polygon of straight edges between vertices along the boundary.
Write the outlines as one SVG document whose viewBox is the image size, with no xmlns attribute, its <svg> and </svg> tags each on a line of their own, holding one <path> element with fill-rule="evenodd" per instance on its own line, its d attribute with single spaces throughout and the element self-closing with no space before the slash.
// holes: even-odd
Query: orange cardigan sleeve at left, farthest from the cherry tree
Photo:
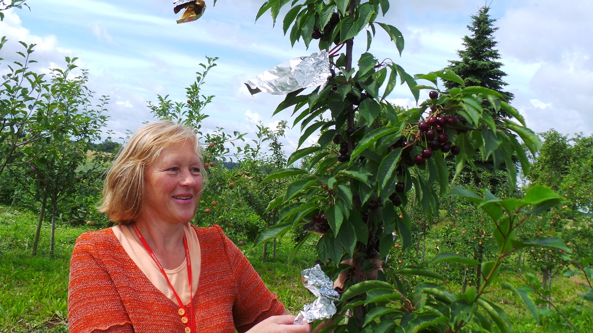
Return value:
<svg viewBox="0 0 593 333">
<path fill-rule="evenodd" d="M 131 333 L 132 322 L 99 252 L 93 233 L 76 239 L 68 286 L 69 331 Z"/>
</svg>

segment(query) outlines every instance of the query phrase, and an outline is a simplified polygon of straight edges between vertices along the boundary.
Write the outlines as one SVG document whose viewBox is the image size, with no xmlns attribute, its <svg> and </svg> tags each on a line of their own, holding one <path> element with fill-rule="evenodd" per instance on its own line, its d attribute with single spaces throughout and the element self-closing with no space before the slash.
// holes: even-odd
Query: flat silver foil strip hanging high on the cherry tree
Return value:
<svg viewBox="0 0 593 333">
<path fill-rule="evenodd" d="M 275 66 L 245 82 L 251 95 L 264 91 L 285 95 L 297 89 L 317 87 L 323 89 L 331 75 L 329 53 L 315 52 Z"/>
</svg>

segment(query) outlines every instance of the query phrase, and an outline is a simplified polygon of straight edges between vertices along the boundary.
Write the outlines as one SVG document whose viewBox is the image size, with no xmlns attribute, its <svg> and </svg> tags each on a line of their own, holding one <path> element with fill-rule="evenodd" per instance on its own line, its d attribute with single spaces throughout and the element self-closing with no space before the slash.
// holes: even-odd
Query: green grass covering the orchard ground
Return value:
<svg viewBox="0 0 593 333">
<path fill-rule="evenodd" d="M 33 238 L 37 225 L 35 213 L 0 206 L 0 331 L 1 332 L 67 332 L 68 267 L 76 238 L 90 226 L 56 227 L 55 255 L 49 257 L 49 223 L 42 228 L 37 256 L 32 257 Z M 310 268 L 317 255 L 311 241 L 302 247 L 294 262 L 288 265 L 288 254 L 294 246 L 293 236 L 287 233 L 278 242 L 275 261 L 262 260 L 262 248 L 247 251 L 246 255 L 269 289 L 292 313 L 314 300 L 301 284 L 300 271 Z M 242 249 L 248 249 L 245 245 Z M 522 283 L 506 274 L 499 280 L 515 286 Z M 593 306 L 577 296 L 584 293 L 578 277 L 560 277 L 553 281 L 553 302 L 580 332 L 593 332 Z M 460 289 L 459 286 L 451 286 Z M 496 289 L 496 288 L 495 288 Z M 514 323 L 515 332 L 549 333 L 573 332 L 559 315 L 540 315 L 537 325 L 521 300 L 508 292 L 490 293 L 492 302 L 501 306 Z M 540 312 L 546 312 L 540 309 Z"/>
</svg>

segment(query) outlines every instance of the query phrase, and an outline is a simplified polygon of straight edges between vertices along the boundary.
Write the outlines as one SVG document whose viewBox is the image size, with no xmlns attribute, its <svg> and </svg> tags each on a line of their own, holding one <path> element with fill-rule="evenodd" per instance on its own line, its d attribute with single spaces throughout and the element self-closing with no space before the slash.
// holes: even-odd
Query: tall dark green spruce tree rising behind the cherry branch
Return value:
<svg viewBox="0 0 593 333">
<path fill-rule="evenodd" d="M 501 71 L 502 62 L 496 61 L 500 59 L 500 54 L 495 49 L 497 41 L 495 41 L 493 33 L 498 30 L 494 26 L 496 19 L 490 18 L 488 11 L 490 7 L 482 7 L 477 15 L 471 15 L 471 24 L 467 28 L 471 31 L 471 36 L 463 37 L 464 50 L 458 50 L 461 60 L 449 60 L 451 65 L 448 66 L 457 75 L 461 76 L 466 83 L 466 87 L 471 85 L 479 85 L 500 92 L 502 100 L 509 103 L 514 95 L 511 92 L 503 91 L 502 88 L 506 82 L 502 78 L 506 73 Z M 444 81 L 447 89 L 460 87 L 454 81 Z M 492 116 L 496 116 L 492 114 Z M 504 112 L 498 114 L 499 117 L 508 117 Z"/>
</svg>

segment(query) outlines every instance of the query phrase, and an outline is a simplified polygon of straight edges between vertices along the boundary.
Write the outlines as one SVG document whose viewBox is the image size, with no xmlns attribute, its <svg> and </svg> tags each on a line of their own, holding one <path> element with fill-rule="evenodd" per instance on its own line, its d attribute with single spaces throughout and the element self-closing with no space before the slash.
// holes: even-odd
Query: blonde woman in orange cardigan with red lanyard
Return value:
<svg viewBox="0 0 593 333">
<path fill-rule="evenodd" d="M 219 226 L 197 228 L 202 153 L 191 127 L 148 124 L 109 169 L 101 212 L 119 225 L 72 253 L 71 332 L 309 332 Z"/>
</svg>

